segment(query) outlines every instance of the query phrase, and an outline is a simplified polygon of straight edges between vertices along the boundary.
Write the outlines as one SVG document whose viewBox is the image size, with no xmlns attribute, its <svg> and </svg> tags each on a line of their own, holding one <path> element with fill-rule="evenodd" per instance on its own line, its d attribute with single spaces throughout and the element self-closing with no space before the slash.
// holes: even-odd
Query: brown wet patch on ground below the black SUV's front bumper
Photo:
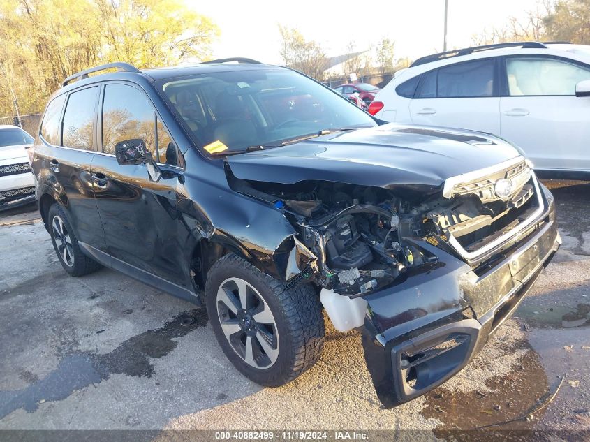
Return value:
<svg viewBox="0 0 590 442">
<path fill-rule="evenodd" d="M 529 344 L 521 345 L 529 348 L 529 351 L 517 359 L 512 366 L 512 371 L 504 376 L 493 376 L 485 381 L 485 385 L 491 391 L 450 391 L 443 385 L 427 393 L 425 408 L 422 409 L 421 414 L 425 418 L 434 418 L 443 422 L 434 430 L 436 437 L 445 441 L 455 441 L 457 431 L 502 424 L 526 415 L 538 407 L 539 402 L 542 402 L 549 393 L 549 383 L 539 362 L 538 354 Z M 477 432 L 472 436 L 477 436 L 474 440 L 481 442 L 497 441 L 499 431 L 531 430 L 534 421 L 538 420 L 543 413 L 543 410 L 535 413 L 533 420 L 518 420 L 488 427 L 489 432 Z"/>
</svg>

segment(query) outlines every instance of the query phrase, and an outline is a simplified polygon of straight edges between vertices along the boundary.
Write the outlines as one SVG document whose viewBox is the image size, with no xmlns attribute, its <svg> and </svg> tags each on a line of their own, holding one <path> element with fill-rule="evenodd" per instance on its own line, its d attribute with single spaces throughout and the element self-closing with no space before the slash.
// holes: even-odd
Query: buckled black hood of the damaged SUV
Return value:
<svg viewBox="0 0 590 442">
<path fill-rule="evenodd" d="M 385 124 L 228 156 L 233 175 L 295 184 L 323 180 L 392 189 L 440 187 L 445 179 L 519 156 L 492 135 L 432 126 Z"/>
</svg>

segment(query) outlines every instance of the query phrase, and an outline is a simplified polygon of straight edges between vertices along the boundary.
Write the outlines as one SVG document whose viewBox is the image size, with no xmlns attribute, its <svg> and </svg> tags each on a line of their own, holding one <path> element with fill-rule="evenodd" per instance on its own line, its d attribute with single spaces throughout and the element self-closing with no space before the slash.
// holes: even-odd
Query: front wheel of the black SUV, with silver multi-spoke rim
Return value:
<svg viewBox="0 0 590 442">
<path fill-rule="evenodd" d="M 230 254 L 209 271 L 205 297 L 223 353 L 252 381 L 286 384 L 320 357 L 325 329 L 311 286 L 284 290 L 284 283 Z"/>
</svg>

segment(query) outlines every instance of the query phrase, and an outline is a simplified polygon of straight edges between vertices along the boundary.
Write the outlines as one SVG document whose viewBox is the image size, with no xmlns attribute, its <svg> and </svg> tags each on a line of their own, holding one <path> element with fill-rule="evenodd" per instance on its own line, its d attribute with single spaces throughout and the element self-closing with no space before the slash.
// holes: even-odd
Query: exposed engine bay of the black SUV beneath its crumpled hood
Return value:
<svg viewBox="0 0 590 442">
<path fill-rule="evenodd" d="M 419 237 L 457 254 L 447 242 L 452 235 L 466 250 L 477 248 L 518 223 L 533 194 L 530 184 L 506 199 L 411 191 L 402 197 L 399 191 L 334 182 L 242 182 L 240 187 L 272 196 L 300 230 L 300 242 L 318 257 L 309 277 L 349 297 L 390 286 L 408 269 L 437 259 L 405 238 Z M 508 212 L 511 216 L 505 216 Z"/>
</svg>

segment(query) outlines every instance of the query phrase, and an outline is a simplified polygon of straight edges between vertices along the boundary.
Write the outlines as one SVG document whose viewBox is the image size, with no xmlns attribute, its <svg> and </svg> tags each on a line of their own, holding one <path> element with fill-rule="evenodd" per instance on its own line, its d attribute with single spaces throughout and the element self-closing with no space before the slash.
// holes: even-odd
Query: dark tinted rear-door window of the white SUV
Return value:
<svg viewBox="0 0 590 442">
<path fill-rule="evenodd" d="M 485 59 L 438 69 L 438 98 L 494 95 L 494 60 Z"/>
</svg>

